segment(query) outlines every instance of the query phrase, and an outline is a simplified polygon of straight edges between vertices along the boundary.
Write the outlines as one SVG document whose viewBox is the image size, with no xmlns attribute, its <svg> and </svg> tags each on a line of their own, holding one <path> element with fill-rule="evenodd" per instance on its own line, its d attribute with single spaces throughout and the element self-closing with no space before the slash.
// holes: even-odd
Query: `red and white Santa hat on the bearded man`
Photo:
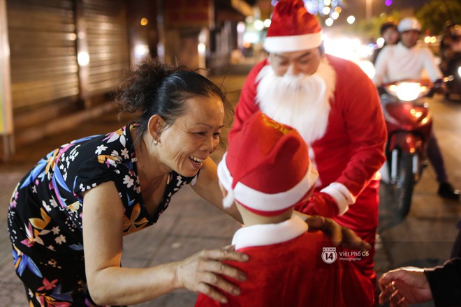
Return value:
<svg viewBox="0 0 461 307">
<path fill-rule="evenodd" d="M 280 0 L 274 7 L 264 40 L 267 52 L 293 52 L 319 47 L 322 29 L 302 0 Z"/>
</svg>

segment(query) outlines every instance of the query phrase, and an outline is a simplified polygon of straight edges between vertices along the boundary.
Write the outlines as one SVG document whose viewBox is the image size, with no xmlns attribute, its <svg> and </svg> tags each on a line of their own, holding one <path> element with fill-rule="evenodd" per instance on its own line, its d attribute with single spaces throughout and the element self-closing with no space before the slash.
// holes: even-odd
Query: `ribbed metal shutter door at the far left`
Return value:
<svg viewBox="0 0 461 307">
<path fill-rule="evenodd" d="M 13 112 L 76 100 L 72 0 L 8 0 Z"/>
</svg>

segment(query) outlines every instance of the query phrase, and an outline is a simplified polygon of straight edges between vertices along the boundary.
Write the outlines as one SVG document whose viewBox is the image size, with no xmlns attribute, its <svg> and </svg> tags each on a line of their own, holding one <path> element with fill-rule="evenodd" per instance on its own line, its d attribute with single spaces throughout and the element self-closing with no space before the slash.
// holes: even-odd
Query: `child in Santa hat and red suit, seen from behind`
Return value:
<svg viewBox="0 0 461 307">
<path fill-rule="evenodd" d="M 223 276 L 240 295 L 223 292 L 228 302 L 220 304 L 199 294 L 196 306 L 372 306 L 369 279 L 339 255 L 328 258 L 323 248 L 332 250 L 330 238 L 307 232 L 307 224 L 293 216 L 293 207 L 312 194 L 319 177 L 298 131 L 254 113 L 234 135 L 218 177 L 224 207 L 235 204 L 244 222 L 232 244 L 249 255 L 248 262 L 227 263 L 247 280 Z"/>
</svg>

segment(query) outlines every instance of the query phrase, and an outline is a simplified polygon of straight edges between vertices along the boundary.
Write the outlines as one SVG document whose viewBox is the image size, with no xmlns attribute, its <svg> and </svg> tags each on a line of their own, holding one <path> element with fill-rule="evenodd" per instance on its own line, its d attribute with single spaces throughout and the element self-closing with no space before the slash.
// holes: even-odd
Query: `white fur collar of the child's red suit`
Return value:
<svg viewBox="0 0 461 307">
<path fill-rule="evenodd" d="M 289 241 L 307 232 L 307 224 L 293 216 L 278 224 L 259 224 L 242 227 L 235 232 L 232 245 L 235 249 L 251 246 L 267 246 Z"/>
</svg>

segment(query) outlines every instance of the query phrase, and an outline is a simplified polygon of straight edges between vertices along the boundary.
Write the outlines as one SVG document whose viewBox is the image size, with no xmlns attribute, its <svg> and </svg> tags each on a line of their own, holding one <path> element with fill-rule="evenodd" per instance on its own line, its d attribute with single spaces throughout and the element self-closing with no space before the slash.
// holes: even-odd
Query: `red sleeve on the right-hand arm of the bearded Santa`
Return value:
<svg viewBox="0 0 461 307">
<path fill-rule="evenodd" d="M 351 158 L 335 180 L 344 184 L 355 196 L 374 179 L 383 165 L 387 131 L 378 92 L 373 82 L 355 63 L 329 57 L 337 71 L 337 86 L 333 103 L 338 103 L 344 117 Z"/>
</svg>

